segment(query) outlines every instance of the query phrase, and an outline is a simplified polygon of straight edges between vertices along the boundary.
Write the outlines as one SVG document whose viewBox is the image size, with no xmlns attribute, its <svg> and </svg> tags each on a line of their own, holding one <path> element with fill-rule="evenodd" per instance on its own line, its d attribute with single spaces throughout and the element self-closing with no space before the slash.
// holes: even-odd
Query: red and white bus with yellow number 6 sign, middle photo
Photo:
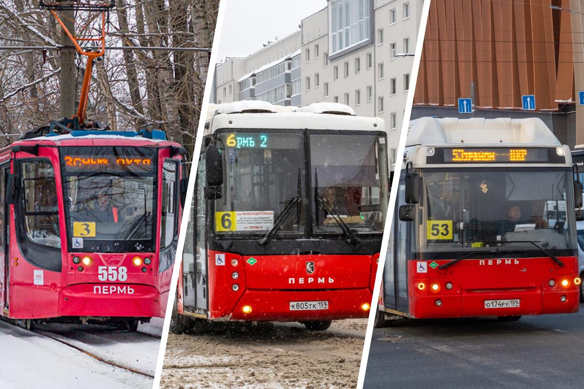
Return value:
<svg viewBox="0 0 584 389">
<path fill-rule="evenodd" d="M 343 104 L 217 106 L 206 122 L 194 241 L 185 245 L 171 330 L 208 320 L 325 330 L 334 319 L 367 317 L 387 155 L 383 120 Z"/>
</svg>

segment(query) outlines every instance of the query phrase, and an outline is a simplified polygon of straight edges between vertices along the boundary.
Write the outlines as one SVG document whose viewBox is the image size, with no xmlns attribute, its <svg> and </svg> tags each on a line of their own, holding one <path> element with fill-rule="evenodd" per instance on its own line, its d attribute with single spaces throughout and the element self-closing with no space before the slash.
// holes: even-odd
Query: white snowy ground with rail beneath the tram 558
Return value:
<svg viewBox="0 0 584 389">
<path fill-rule="evenodd" d="M 162 319 L 138 331 L 160 334 Z M 93 325 L 40 325 L 40 334 L 0 321 L 0 387 L 150 389 L 152 379 L 100 362 L 47 334 L 98 358 L 154 375 L 160 339 L 145 334 Z"/>
</svg>

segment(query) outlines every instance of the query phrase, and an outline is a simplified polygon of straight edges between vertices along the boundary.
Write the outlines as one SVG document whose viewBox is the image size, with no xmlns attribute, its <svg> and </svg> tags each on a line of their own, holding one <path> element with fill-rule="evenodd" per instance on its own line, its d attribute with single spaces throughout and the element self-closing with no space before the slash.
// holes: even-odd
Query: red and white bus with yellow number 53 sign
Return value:
<svg viewBox="0 0 584 389">
<path fill-rule="evenodd" d="M 537 118 L 412 121 L 376 324 L 578 311 L 579 185 Z"/>
</svg>

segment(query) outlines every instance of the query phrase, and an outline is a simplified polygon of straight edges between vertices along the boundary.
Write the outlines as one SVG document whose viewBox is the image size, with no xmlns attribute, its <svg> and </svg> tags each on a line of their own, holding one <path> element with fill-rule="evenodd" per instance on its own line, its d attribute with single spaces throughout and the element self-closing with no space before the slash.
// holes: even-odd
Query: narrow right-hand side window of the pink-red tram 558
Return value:
<svg viewBox="0 0 584 389">
<path fill-rule="evenodd" d="M 168 247 L 176 237 L 176 174 L 178 164 L 174 160 L 165 160 L 162 167 L 162 212 L 160 220 L 160 247 Z"/>
</svg>

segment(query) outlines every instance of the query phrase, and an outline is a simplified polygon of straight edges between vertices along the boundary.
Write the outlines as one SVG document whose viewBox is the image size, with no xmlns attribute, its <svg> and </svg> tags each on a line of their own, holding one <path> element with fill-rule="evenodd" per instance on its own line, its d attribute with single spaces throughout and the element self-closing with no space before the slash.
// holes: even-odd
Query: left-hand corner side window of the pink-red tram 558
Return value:
<svg viewBox="0 0 584 389">
<path fill-rule="evenodd" d="M 25 192 L 25 229 L 29 240 L 61 247 L 55 171 L 48 161 L 22 162 Z"/>
</svg>

